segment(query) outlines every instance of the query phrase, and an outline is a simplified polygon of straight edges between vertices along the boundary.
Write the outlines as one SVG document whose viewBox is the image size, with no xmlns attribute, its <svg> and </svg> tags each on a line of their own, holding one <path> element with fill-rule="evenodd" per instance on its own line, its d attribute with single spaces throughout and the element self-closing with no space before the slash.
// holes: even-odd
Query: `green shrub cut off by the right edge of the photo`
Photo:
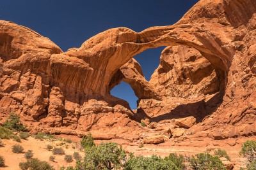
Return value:
<svg viewBox="0 0 256 170">
<path fill-rule="evenodd" d="M 246 157 L 249 162 L 256 160 L 256 141 L 248 140 L 246 141 L 239 152 L 241 155 Z"/>
</svg>

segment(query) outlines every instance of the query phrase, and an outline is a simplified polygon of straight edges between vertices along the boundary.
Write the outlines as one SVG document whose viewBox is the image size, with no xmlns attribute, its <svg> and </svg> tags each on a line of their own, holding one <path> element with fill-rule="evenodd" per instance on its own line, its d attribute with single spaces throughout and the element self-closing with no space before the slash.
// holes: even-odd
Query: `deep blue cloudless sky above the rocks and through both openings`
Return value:
<svg viewBox="0 0 256 170">
<path fill-rule="evenodd" d="M 196 2 L 198 0 L 3 0 L 0 19 L 35 30 L 65 52 L 113 27 L 140 32 L 152 26 L 172 25 Z M 147 80 L 159 65 L 162 50 L 160 47 L 136 55 Z M 111 94 L 128 101 L 132 109 L 136 108 L 138 98 L 126 83 L 116 86 Z"/>
</svg>

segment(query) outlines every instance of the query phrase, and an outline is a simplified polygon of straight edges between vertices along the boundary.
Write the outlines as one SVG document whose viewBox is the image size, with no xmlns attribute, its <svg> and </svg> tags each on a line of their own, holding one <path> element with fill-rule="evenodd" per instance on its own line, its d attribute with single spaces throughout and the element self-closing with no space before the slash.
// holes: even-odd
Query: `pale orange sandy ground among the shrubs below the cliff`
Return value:
<svg viewBox="0 0 256 170">
<path fill-rule="evenodd" d="M 67 143 L 61 146 L 65 150 L 66 154 L 72 155 L 74 152 L 79 152 L 82 156 L 84 156 L 83 150 L 81 151 L 79 146 L 79 141 L 81 140 L 80 138 L 77 138 L 76 136 L 61 137 L 72 139 L 73 141 L 73 143 L 68 144 L 68 148 L 65 148 L 65 145 L 67 145 Z M 214 150 L 221 148 L 227 151 L 228 155 L 231 158 L 231 161 L 235 164 L 234 170 L 239 170 L 240 167 L 246 167 L 246 159 L 239 156 L 239 151 L 241 150 L 241 145 L 248 139 L 255 140 L 256 136 L 232 139 L 232 143 L 234 143 L 235 141 L 234 146 L 230 146 L 230 139 L 221 141 L 212 141 L 212 139 L 204 139 L 204 141 L 191 141 L 191 143 L 175 143 L 172 140 L 170 140 L 159 145 L 144 145 L 143 147 L 139 147 L 137 143 L 127 143 L 127 141 L 124 141 L 122 139 L 114 139 L 112 141 L 122 145 L 127 153 L 133 152 L 135 155 L 143 155 L 146 157 L 152 154 L 165 157 L 168 156 L 170 153 L 174 152 L 182 154 L 184 156 L 188 156 L 195 155 L 196 153 L 205 152 L 206 150 L 213 154 Z M 0 155 L 2 155 L 6 160 L 6 167 L 0 167 L 0 169 L 19 169 L 19 162 L 26 161 L 26 159 L 24 158 L 24 153 L 12 153 L 12 146 L 15 144 L 22 145 L 24 147 L 24 152 L 28 150 L 33 150 L 35 158 L 49 162 L 49 164 L 51 164 L 56 170 L 60 169 L 61 166 L 75 166 L 76 164 L 75 160 L 71 163 L 65 162 L 65 155 L 55 155 L 55 162 L 49 161 L 49 157 L 52 155 L 52 152 L 46 149 L 46 145 L 60 145 L 60 141 L 40 141 L 32 137 L 30 137 L 28 140 L 22 139 L 21 143 L 17 143 L 16 141 L 13 141 L 13 139 L 2 139 L 2 141 L 4 143 L 4 147 L 0 147 Z M 95 141 L 96 144 L 102 142 L 106 141 Z M 204 146 L 205 143 L 207 143 L 207 146 Z"/>
</svg>

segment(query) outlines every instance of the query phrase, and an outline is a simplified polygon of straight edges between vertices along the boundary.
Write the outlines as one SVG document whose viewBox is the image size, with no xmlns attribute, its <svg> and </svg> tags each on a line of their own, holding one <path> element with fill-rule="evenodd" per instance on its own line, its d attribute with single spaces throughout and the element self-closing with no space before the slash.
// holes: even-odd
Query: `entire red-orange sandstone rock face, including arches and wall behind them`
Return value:
<svg viewBox="0 0 256 170">
<path fill-rule="evenodd" d="M 13 111 L 35 132 L 136 140 L 147 131 L 141 118 L 161 124 L 193 116 L 191 138 L 256 134 L 255 22 L 254 0 L 201 0 L 174 25 L 109 29 L 62 52 L 2 20 L 0 120 Z M 147 81 L 132 57 L 158 46 L 167 47 Z M 138 96 L 136 113 L 110 95 L 120 81 Z"/>
</svg>

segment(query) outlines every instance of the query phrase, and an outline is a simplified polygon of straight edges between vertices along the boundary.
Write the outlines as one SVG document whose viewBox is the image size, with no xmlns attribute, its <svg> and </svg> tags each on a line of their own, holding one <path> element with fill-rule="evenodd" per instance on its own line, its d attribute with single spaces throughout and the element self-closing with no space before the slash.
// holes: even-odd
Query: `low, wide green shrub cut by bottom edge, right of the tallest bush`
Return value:
<svg viewBox="0 0 256 170">
<path fill-rule="evenodd" d="M 125 162 L 124 170 L 179 170 L 175 164 L 168 159 L 162 159 L 157 155 L 151 157 L 137 156 L 132 153 L 129 155 L 129 159 Z"/>
</svg>

